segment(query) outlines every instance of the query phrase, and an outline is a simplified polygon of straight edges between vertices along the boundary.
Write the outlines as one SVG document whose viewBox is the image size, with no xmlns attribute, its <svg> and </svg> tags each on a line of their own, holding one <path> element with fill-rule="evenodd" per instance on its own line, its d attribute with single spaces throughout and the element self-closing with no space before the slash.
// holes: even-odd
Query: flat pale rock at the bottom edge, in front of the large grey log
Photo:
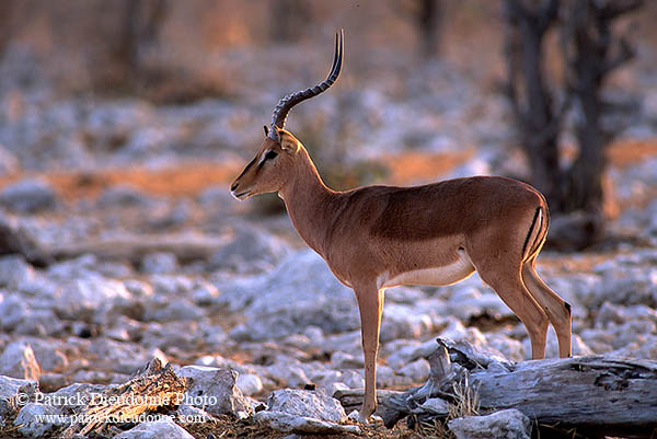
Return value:
<svg viewBox="0 0 657 439">
<path fill-rule="evenodd" d="M 487 416 L 465 416 L 447 423 L 457 439 L 530 439 L 531 421 L 511 408 Z"/>
</svg>

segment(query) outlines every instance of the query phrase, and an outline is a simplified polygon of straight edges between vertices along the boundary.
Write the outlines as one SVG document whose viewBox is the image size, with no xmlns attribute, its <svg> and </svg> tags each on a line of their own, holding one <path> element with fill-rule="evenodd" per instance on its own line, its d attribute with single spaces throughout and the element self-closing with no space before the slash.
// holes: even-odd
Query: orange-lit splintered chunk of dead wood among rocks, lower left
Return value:
<svg viewBox="0 0 657 439">
<path fill-rule="evenodd" d="M 128 382 L 94 396 L 74 415 L 80 421 L 68 427 L 61 437 L 92 432 L 102 436 L 113 424 L 134 421 L 147 411 L 173 409 L 183 401 L 186 388 L 186 378 L 177 377 L 171 363 L 163 367 L 155 358 Z"/>
</svg>

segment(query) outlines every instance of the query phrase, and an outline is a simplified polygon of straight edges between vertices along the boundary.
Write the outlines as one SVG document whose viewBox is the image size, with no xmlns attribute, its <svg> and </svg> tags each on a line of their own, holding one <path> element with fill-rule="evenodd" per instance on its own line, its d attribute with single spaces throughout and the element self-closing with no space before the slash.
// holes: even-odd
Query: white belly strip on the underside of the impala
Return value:
<svg viewBox="0 0 657 439">
<path fill-rule="evenodd" d="M 462 252 L 459 259 L 449 265 L 404 272 L 392 278 L 389 277 L 388 273 L 383 273 L 377 280 L 379 288 L 397 287 L 400 285 L 430 285 L 439 287 L 463 280 L 473 273 L 474 266 L 470 262 L 470 257 Z"/>
</svg>

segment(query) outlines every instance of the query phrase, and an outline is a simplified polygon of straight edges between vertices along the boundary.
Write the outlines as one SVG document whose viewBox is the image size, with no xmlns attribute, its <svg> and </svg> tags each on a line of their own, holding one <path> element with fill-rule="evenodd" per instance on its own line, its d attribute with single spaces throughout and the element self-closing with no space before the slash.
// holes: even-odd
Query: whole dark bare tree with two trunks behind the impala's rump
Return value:
<svg viewBox="0 0 657 439">
<path fill-rule="evenodd" d="M 612 23 L 638 9 L 643 0 L 505 0 L 506 94 L 520 143 L 528 157 L 532 183 L 553 212 L 577 212 L 566 222 L 574 249 L 593 243 L 602 232 L 604 147 L 614 132 L 602 126 L 609 105 L 602 99 L 604 79 L 633 56 L 626 36 Z M 549 86 L 544 76 L 546 32 L 560 25 L 565 83 Z M 558 137 L 564 115 L 576 116 L 579 154 L 560 167 Z"/>
</svg>

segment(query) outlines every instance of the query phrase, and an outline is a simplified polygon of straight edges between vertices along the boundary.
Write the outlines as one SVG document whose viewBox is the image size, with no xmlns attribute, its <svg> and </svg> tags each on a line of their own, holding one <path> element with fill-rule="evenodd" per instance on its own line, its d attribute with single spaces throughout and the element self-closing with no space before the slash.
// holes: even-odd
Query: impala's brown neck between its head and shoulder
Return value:
<svg viewBox="0 0 657 439">
<path fill-rule="evenodd" d="M 298 154 L 293 174 L 278 193 L 299 235 L 323 255 L 339 194 L 324 185 L 306 149 L 300 148 Z"/>
</svg>

